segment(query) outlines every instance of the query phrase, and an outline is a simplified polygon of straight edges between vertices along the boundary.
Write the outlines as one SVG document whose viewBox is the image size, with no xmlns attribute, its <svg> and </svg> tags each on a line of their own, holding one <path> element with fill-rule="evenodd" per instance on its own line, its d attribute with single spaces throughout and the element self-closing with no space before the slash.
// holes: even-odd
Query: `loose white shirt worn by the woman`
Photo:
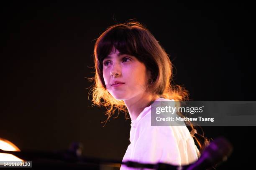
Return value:
<svg viewBox="0 0 256 170">
<path fill-rule="evenodd" d="M 159 98 L 156 101 L 172 100 Z M 123 162 L 188 165 L 200 155 L 186 126 L 151 126 L 151 105 L 131 121 L 130 142 Z M 120 167 L 120 170 L 131 169 L 125 165 Z"/>
</svg>

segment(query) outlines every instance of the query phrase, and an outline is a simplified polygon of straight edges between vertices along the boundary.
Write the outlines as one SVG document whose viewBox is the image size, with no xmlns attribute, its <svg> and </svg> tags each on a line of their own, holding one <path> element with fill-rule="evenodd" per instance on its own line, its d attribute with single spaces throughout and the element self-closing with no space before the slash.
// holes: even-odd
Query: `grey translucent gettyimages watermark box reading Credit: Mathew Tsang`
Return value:
<svg viewBox="0 0 256 170">
<path fill-rule="evenodd" d="M 256 126 L 256 101 L 155 101 L 151 125 Z"/>
</svg>

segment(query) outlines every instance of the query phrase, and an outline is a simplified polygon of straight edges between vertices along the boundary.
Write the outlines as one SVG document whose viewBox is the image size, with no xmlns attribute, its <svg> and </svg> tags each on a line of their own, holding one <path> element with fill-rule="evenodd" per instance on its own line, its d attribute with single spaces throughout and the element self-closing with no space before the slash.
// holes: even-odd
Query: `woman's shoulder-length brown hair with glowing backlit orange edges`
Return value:
<svg viewBox="0 0 256 170">
<path fill-rule="evenodd" d="M 90 81 L 94 80 L 95 82 L 89 92 L 89 95 L 92 92 L 93 105 L 105 106 L 107 108 L 105 115 L 108 115 L 108 118 L 105 122 L 114 115 L 116 109 L 118 109 L 118 115 L 120 111 L 123 111 L 125 118 L 128 119 L 128 110 L 125 103 L 116 100 L 110 95 L 103 79 L 102 61 L 110 54 L 113 47 L 120 51 L 120 53 L 136 57 L 140 62 L 145 64 L 147 70 L 151 71 L 151 82 L 147 86 L 149 92 L 166 99 L 174 99 L 176 101 L 188 100 L 188 91 L 180 85 L 171 83 L 172 62 L 169 59 L 169 55 L 151 32 L 136 21 L 116 24 L 108 27 L 97 38 L 94 48 L 95 76 L 89 78 Z M 192 130 L 195 129 L 192 124 L 189 126 Z M 203 145 L 197 138 L 195 140 L 201 152 L 205 148 L 204 145 L 207 144 L 207 140 L 205 140 Z"/>
</svg>

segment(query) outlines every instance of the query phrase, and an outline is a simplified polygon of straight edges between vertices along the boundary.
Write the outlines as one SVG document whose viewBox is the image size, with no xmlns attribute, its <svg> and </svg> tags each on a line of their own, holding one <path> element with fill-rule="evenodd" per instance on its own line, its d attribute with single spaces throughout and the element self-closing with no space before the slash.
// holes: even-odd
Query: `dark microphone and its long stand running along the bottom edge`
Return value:
<svg viewBox="0 0 256 170">
<path fill-rule="evenodd" d="M 73 168 L 74 166 L 79 166 L 80 168 L 86 169 L 90 167 L 90 169 L 93 170 L 99 170 L 100 165 L 120 167 L 121 164 L 131 168 L 149 168 L 155 170 L 205 170 L 207 168 L 210 168 L 212 165 L 227 160 L 227 157 L 231 154 L 232 149 L 232 145 L 227 140 L 225 140 L 224 138 L 218 138 L 216 139 L 216 142 L 214 140 L 207 148 L 205 148 L 205 151 L 195 163 L 184 166 L 170 165 L 166 163 L 145 164 L 134 161 L 122 162 L 118 160 L 84 157 L 81 156 L 81 145 L 79 143 L 73 143 L 72 147 L 69 150 L 64 151 L 5 151 L 0 149 L 0 153 L 13 154 L 23 160 L 36 162 L 36 166 L 44 165 L 46 168 L 47 164 L 45 164 L 42 160 L 60 160 L 64 161 L 64 163 L 72 163 Z M 76 165 L 74 165 L 74 163 L 76 163 Z M 33 165 L 35 165 L 35 163 L 33 163 Z"/>
</svg>

